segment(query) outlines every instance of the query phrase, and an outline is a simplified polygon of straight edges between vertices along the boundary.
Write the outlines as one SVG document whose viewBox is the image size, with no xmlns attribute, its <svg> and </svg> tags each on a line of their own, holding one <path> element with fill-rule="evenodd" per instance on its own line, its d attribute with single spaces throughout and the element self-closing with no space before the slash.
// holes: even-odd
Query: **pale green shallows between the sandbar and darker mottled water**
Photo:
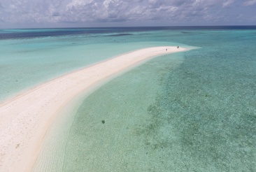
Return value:
<svg viewBox="0 0 256 172">
<path fill-rule="evenodd" d="M 132 166 L 130 171 L 134 171 L 138 168 L 134 166 L 136 162 L 129 162 L 134 153 L 138 156 L 135 157 L 137 160 L 150 164 L 150 159 L 144 159 L 148 153 L 140 147 L 143 140 L 136 136 L 139 132 L 137 125 L 149 119 L 145 108 L 155 102 L 159 79 L 168 72 L 163 69 L 163 63 L 166 69 L 172 70 L 182 62 L 183 53 L 157 57 L 92 92 L 82 100 L 78 111 L 75 110 L 76 116 L 66 117 L 65 125 L 57 124 L 63 120 L 58 117 L 50 129 L 52 134 L 49 134 L 55 135 L 55 139 L 48 135 L 48 142 L 34 171 L 105 171 L 109 166 L 113 168 L 109 171 L 124 171 Z M 59 134 L 62 135 L 60 138 Z M 60 145 L 56 137 L 66 142 Z M 127 151 L 131 155 L 126 155 Z M 57 167 L 56 164 L 62 166 Z M 143 169 L 147 169 L 144 164 L 141 166 Z"/>
</svg>

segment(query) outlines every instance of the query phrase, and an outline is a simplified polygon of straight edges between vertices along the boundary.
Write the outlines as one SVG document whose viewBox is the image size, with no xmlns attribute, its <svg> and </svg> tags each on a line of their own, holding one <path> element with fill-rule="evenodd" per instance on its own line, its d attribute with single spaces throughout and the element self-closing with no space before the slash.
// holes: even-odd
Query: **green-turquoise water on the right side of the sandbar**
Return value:
<svg viewBox="0 0 256 172">
<path fill-rule="evenodd" d="M 201 49 L 152 60 L 83 101 L 63 171 L 256 171 L 256 32 L 188 32 L 169 39 Z"/>
</svg>

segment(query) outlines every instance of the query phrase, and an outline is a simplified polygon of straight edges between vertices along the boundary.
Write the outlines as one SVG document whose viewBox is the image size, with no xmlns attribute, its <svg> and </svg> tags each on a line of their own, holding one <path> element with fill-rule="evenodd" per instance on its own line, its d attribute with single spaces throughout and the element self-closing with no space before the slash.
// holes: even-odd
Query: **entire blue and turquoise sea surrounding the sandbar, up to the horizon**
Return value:
<svg viewBox="0 0 256 172">
<path fill-rule="evenodd" d="M 0 102 L 125 52 L 156 57 L 64 108 L 34 171 L 256 171 L 256 26 L 0 29 Z"/>
</svg>

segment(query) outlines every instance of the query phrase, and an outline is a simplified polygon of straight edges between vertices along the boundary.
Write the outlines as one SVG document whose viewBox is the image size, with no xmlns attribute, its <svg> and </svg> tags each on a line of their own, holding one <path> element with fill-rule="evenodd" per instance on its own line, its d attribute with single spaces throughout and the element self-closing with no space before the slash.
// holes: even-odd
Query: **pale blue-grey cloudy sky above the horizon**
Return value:
<svg viewBox="0 0 256 172">
<path fill-rule="evenodd" d="M 255 25 L 256 0 L 1 0 L 0 28 Z"/>
</svg>

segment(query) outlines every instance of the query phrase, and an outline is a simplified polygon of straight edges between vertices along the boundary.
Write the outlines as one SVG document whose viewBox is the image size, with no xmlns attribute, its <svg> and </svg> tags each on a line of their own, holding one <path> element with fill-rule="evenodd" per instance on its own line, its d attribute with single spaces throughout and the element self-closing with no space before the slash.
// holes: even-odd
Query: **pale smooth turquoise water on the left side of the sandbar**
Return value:
<svg viewBox="0 0 256 172">
<path fill-rule="evenodd" d="M 165 42 L 141 43 L 124 39 L 106 34 L 82 34 L 0 40 L 0 102 L 52 78 L 116 55 L 166 45 Z"/>
</svg>

